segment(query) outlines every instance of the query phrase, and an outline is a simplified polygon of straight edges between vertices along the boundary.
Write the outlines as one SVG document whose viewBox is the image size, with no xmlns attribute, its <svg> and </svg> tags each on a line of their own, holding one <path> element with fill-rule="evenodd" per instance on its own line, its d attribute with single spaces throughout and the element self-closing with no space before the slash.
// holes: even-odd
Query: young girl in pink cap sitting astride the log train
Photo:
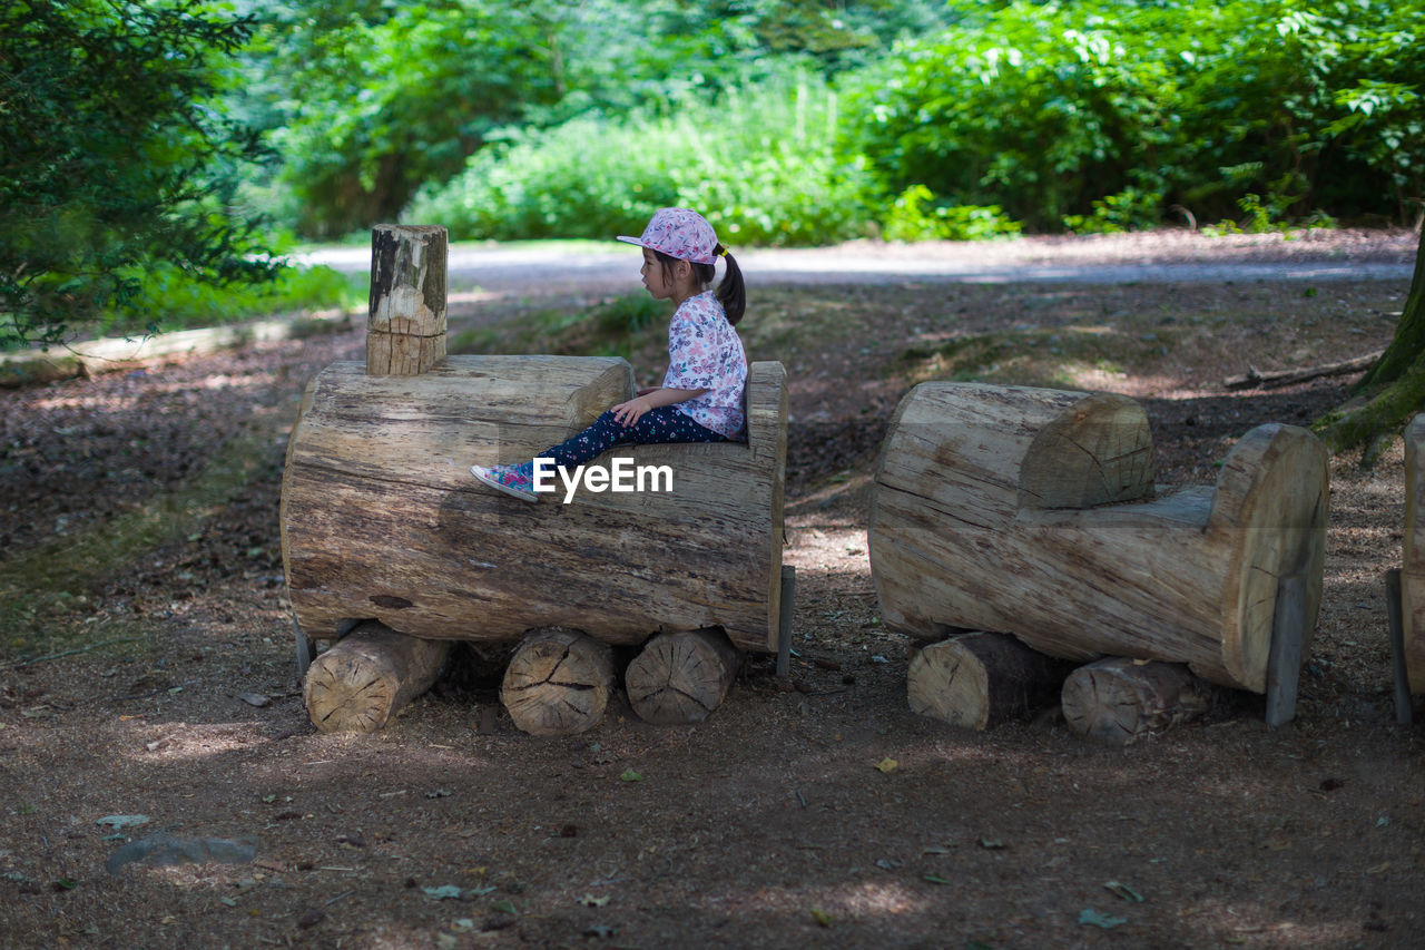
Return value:
<svg viewBox="0 0 1425 950">
<path fill-rule="evenodd" d="M 742 318 L 747 291 L 737 261 L 718 244 L 712 225 L 687 208 L 663 208 L 643 237 L 618 240 L 643 247 L 643 285 L 648 294 L 677 305 L 668 324 L 668 372 L 660 388 L 640 389 L 636 398 L 613 407 L 537 458 L 573 469 L 614 445 L 742 439 L 747 354 L 732 328 Z M 727 261 L 727 272 L 714 292 L 708 285 L 720 257 Z M 472 465 L 470 474 L 516 498 L 539 501 L 533 461 Z"/>
</svg>

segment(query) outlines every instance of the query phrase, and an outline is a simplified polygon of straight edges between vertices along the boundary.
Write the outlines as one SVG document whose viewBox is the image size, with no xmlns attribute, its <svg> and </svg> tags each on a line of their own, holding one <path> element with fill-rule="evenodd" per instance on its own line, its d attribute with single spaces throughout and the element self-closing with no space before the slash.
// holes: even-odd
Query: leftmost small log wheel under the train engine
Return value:
<svg viewBox="0 0 1425 950">
<path fill-rule="evenodd" d="M 321 732 L 375 732 L 430 689 L 450 645 L 368 620 L 318 656 L 302 695 Z"/>
</svg>

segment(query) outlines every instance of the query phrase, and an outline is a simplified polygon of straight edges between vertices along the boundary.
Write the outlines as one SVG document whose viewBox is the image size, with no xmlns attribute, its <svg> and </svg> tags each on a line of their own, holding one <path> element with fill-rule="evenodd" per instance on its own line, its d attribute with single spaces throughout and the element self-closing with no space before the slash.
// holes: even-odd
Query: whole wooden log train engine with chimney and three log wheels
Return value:
<svg viewBox="0 0 1425 950">
<path fill-rule="evenodd" d="M 502 699 L 540 735 L 598 722 L 611 645 L 643 645 L 626 683 L 654 722 L 704 717 L 740 650 L 778 649 L 781 364 L 750 368 L 745 444 L 616 449 L 598 462 L 665 476 L 532 505 L 469 466 L 529 459 L 631 398 L 626 361 L 446 357 L 445 230 L 393 225 L 373 235 L 366 355 L 311 382 L 282 481 L 299 653 L 333 642 L 305 679 L 319 729 L 382 727 L 453 640 L 520 642 Z"/>
</svg>

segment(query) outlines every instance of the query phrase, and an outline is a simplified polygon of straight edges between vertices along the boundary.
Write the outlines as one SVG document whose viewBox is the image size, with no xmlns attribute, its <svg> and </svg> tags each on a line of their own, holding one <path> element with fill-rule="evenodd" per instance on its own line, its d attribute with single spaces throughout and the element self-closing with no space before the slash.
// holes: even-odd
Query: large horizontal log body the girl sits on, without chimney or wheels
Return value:
<svg viewBox="0 0 1425 950">
<path fill-rule="evenodd" d="M 494 492 L 472 464 L 516 462 L 630 398 L 623 359 L 450 357 L 418 377 L 338 362 L 309 387 L 282 482 L 292 609 L 312 639 L 378 619 L 428 639 L 516 640 L 566 626 L 611 643 L 721 626 L 775 650 L 787 388 L 748 375 L 747 444 L 620 448 L 671 491 Z M 646 484 L 651 488 L 651 482 Z M 660 488 L 665 485 L 660 484 Z"/>
</svg>

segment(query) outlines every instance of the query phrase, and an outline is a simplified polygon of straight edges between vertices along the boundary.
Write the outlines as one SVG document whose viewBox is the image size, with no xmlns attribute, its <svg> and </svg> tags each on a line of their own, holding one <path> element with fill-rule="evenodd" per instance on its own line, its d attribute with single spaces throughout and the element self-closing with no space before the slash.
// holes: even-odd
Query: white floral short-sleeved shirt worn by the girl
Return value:
<svg viewBox="0 0 1425 950">
<path fill-rule="evenodd" d="M 712 291 L 687 298 L 668 324 L 664 388 L 707 389 L 674 409 L 730 439 L 741 439 L 747 352 Z"/>
</svg>

